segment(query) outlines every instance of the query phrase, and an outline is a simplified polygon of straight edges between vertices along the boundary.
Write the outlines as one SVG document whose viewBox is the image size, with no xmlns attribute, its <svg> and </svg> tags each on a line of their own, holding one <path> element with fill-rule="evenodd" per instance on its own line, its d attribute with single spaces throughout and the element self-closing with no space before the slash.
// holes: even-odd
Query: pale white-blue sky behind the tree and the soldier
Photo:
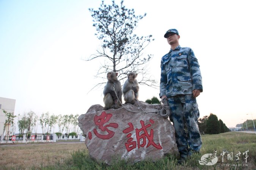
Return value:
<svg viewBox="0 0 256 170">
<path fill-rule="evenodd" d="M 84 60 L 101 45 L 88 10 L 100 4 L 0 0 L 0 97 L 16 100 L 15 115 L 80 115 L 91 105 L 104 106 L 104 87 L 90 91 L 102 81 L 95 78 L 99 62 Z M 124 5 L 136 15 L 147 14 L 135 32 L 155 39 L 144 50 L 154 55 L 148 74 L 159 82 L 161 57 L 170 50 L 163 35 L 176 28 L 179 44 L 192 48 L 200 65 L 200 117 L 213 113 L 227 127 L 256 119 L 255 1 L 125 0 Z M 153 96 L 159 97 L 159 88 L 140 86 L 139 100 Z"/>
</svg>

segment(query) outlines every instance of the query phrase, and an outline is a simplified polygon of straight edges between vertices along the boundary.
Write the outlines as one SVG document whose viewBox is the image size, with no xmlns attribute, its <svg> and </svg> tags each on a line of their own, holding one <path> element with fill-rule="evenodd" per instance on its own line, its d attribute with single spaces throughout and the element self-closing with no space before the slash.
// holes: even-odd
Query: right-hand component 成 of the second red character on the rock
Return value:
<svg viewBox="0 0 256 170">
<path fill-rule="evenodd" d="M 152 124 L 154 124 L 154 121 L 152 119 L 150 119 L 150 122 Z M 151 124 L 148 124 L 148 125 L 144 125 L 144 121 L 140 121 L 140 124 L 141 124 L 141 129 L 135 129 L 136 130 L 136 138 L 137 138 L 137 142 L 138 142 L 138 148 L 140 147 L 144 147 L 146 145 L 146 138 L 148 139 L 148 145 L 146 146 L 149 147 L 149 145 L 153 145 L 155 148 L 157 149 L 162 149 L 162 146 L 160 144 L 155 144 L 155 142 L 153 141 L 153 138 L 154 138 L 154 131 L 153 129 L 150 130 L 150 135 L 148 134 L 148 131 L 146 130 L 146 128 L 148 127 L 151 127 Z M 141 134 L 140 135 L 140 132 L 144 132 L 144 134 Z M 143 143 L 140 144 L 140 139 L 143 139 Z"/>
</svg>

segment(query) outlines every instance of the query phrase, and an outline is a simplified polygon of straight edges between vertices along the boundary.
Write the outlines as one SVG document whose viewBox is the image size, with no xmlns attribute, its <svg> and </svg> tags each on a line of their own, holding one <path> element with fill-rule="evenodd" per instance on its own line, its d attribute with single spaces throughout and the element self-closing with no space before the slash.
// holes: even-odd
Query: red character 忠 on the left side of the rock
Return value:
<svg viewBox="0 0 256 170">
<path fill-rule="evenodd" d="M 104 124 L 107 123 L 110 120 L 111 117 L 112 117 L 112 114 L 107 114 L 105 111 L 103 111 L 100 116 L 97 116 L 97 115 L 94 116 L 95 125 L 99 126 L 99 129 L 101 131 L 107 131 L 107 133 L 108 133 L 108 134 L 99 134 L 97 132 L 97 130 L 94 129 L 93 132 L 94 132 L 94 134 L 96 134 L 96 136 L 98 138 L 110 139 L 114 136 L 115 132 L 109 130 L 108 127 L 118 128 L 118 124 L 110 123 L 110 124 L 104 126 Z M 91 134 L 89 132 L 89 139 L 90 138 L 91 138 Z"/>
</svg>

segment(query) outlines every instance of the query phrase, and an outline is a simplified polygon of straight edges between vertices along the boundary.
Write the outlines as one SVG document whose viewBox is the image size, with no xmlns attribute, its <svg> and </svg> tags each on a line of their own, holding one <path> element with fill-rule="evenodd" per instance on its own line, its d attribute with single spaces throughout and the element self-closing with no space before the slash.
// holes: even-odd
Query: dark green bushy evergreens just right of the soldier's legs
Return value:
<svg viewBox="0 0 256 170">
<path fill-rule="evenodd" d="M 198 127 L 201 134 L 219 134 L 230 131 L 229 128 L 215 114 L 198 119 Z"/>
</svg>

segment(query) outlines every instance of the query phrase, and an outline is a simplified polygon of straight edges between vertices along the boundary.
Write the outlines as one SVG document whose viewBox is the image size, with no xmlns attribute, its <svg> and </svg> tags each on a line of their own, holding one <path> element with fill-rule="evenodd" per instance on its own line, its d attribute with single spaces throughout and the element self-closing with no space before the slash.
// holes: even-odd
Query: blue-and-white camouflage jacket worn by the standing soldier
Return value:
<svg viewBox="0 0 256 170">
<path fill-rule="evenodd" d="M 161 59 L 160 97 L 203 91 L 198 61 L 191 48 L 177 46 Z"/>
</svg>

